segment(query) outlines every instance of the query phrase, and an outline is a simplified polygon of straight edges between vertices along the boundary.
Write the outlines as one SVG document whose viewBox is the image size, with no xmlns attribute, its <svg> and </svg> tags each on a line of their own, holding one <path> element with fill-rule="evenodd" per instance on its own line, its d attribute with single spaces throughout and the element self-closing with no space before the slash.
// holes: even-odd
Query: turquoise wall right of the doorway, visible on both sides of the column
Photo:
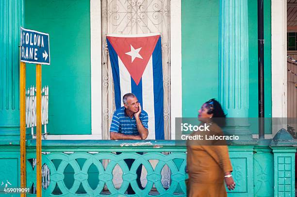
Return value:
<svg viewBox="0 0 297 197">
<path fill-rule="evenodd" d="M 271 117 L 271 2 L 264 0 L 265 116 Z M 258 117 L 257 0 L 248 0 L 249 117 Z M 182 116 L 218 98 L 219 0 L 181 1 Z"/>
</svg>

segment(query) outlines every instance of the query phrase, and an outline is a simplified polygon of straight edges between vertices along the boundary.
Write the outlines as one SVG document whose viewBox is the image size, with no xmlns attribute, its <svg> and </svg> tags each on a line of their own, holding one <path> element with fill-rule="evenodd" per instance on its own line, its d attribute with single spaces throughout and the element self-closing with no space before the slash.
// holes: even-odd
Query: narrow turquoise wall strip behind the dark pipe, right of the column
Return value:
<svg viewBox="0 0 297 197">
<path fill-rule="evenodd" d="M 249 117 L 258 117 L 258 4 L 248 1 Z M 264 0 L 265 117 L 271 117 L 271 1 Z M 256 98 L 256 99 L 255 99 Z M 256 109 L 256 110 L 255 110 Z"/>
</svg>

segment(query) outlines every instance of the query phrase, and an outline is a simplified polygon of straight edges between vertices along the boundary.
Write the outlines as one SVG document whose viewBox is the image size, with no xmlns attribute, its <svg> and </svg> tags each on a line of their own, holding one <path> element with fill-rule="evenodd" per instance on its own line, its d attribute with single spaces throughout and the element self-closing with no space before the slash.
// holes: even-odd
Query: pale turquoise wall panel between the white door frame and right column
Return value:
<svg viewBox="0 0 297 197">
<path fill-rule="evenodd" d="M 219 0 L 181 1 L 182 117 L 218 97 Z"/>
</svg>

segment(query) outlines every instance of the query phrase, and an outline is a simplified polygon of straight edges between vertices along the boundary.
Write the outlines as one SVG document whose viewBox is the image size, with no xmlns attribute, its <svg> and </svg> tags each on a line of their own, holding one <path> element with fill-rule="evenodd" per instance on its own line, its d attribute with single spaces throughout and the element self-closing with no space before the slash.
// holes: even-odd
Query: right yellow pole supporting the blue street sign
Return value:
<svg viewBox="0 0 297 197">
<path fill-rule="evenodd" d="M 36 65 L 36 196 L 41 197 L 41 65 Z"/>
</svg>

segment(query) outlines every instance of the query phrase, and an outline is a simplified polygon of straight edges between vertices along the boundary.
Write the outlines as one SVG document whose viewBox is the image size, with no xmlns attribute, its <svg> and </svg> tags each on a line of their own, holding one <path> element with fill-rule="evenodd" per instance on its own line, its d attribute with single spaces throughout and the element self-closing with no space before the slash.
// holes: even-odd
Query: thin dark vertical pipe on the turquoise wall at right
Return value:
<svg viewBox="0 0 297 197">
<path fill-rule="evenodd" d="M 264 139 L 264 0 L 258 0 L 259 139 Z"/>
</svg>

